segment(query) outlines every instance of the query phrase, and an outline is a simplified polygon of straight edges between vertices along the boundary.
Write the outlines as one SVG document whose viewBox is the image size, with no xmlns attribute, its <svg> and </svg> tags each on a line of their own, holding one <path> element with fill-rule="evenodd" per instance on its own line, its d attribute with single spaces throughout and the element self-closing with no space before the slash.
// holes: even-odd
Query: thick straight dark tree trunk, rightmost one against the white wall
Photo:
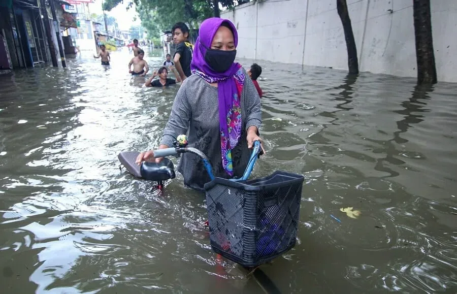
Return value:
<svg viewBox="0 0 457 294">
<path fill-rule="evenodd" d="M 437 82 L 433 52 L 430 0 L 413 0 L 414 36 L 416 39 L 417 84 Z"/>
</svg>

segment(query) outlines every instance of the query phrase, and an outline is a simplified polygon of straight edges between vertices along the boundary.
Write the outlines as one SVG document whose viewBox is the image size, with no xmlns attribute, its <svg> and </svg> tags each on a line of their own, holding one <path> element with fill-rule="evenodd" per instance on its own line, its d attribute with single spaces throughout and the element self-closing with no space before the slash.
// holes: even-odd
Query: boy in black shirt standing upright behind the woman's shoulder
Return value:
<svg viewBox="0 0 457 294">
<path fill-rule="evenodd" d="M 172 28 L 173 41 L 176 45 L 176 52 L 173 57 L 176 70 L 184 81 L 190 76 L 190 62 L 192 61 L 193 45 L 187 41 L 189 28 L 183 22 L 177 22 Z"/>
</svg>

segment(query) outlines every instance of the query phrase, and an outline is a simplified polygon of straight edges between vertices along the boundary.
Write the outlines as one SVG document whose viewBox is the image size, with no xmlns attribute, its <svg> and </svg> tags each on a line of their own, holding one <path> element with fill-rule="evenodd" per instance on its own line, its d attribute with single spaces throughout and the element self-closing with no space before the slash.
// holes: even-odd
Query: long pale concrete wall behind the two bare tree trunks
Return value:
<svg viewBox="0 0 457 294">
<path fill-rule="evenodd" d="M 361 71 L 416 77 L 412 0 L 347 0 Z M 221 13 L 238 29 L 238 56 L 347 69 L 336 0 L 266 0 Z M 439 81 L 457 82 L 457 1 L 432 1 Z"/>
</svg>

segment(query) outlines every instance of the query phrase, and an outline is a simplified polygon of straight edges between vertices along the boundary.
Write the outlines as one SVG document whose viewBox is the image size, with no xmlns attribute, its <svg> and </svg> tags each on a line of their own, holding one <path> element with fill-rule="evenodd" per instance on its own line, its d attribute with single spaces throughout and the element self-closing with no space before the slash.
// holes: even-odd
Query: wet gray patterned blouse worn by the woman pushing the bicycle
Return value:
<svg viewBox="0 0 457 294">
<path fill-rule="evenodd" d="M 243 128 L 240 141 L 232 150 L 234 177 L 243 175 L 251 155 L 246 142 L 247 128 L 254 125 L 260 130 L 262 124 L 260 97 L 245 71 L 244 74 L 241 92 Z M 222 168 L 217 97 L 217 87 L 211 86 L 199 76 L 192 74 L 185 79 L 176 94 L 160 144 L 172 147 L 176 137 L 186 134 L 189 147 L 197 148 L 208 156 L 214 176 L 230 178 Z M 205 183 L 210 181 L 200 157 L 192 153 L 181 155 L 178 171 L 183 175 L 184 184 L 197 190 L 203 190 Z"/>
</svg>

